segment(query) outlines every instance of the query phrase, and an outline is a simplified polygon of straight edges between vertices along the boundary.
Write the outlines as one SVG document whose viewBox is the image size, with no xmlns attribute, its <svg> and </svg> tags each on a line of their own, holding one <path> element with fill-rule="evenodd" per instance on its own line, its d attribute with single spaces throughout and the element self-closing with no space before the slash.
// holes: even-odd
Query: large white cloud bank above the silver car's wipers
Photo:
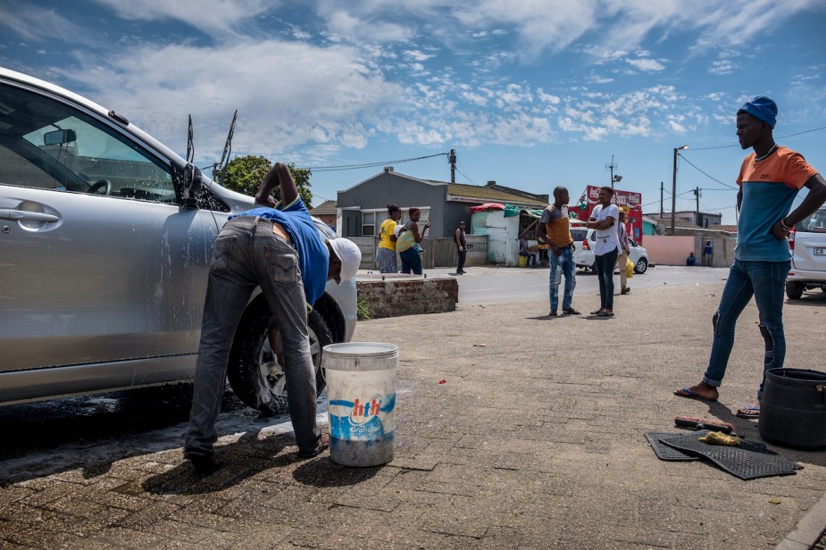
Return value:
<svg viewBox="0 0 826 550">
<path fill-rule="evenodd" d="M 96 101 L 179 150 L 191 113 L 204 156 L 220 156 L 238 109 L 234 150 L 268 155 L 308 142 L 366 146 L 373 122 L 405 104 L 405 90 L 358 59 L 348 46 L 268 40 L 146 46 L 112 55 L 111 67 L 81 57 L 80 69 L 54 70 L 96 89 Z"/>
</svg>

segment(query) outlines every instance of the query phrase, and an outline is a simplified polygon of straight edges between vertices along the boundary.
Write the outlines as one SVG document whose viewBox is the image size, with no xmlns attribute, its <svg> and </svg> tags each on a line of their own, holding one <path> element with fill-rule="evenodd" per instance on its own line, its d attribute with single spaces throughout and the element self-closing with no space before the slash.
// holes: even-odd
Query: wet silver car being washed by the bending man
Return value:
<svg viewBox="0 0 826 550">
<path fill-rule="evenodd" d="M 213 242 L 252 204 L 121 114 L 0 68 L 0 404 L 191 380 Z M 353 280 L 314 305 L 317 372 L 321 347 L 352 337 L 355 309 Z M 287 405 L 270 317 L 256 292 L 229 381 L 276 413 Z"/>
</svg>

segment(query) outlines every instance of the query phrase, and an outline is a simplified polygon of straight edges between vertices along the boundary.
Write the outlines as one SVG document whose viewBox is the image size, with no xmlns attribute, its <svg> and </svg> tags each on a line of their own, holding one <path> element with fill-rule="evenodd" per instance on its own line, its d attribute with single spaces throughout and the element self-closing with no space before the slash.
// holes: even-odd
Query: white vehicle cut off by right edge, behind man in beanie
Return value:
<svg viewBox="0 0 826 550">
<path fill-rule="evenodd" d="M 797 300 L 806 290 L 826 292 L 826 208 L 797 223 L 788 235 L 791 268 L 786 279 L 786 296 Z"/>
</svg>

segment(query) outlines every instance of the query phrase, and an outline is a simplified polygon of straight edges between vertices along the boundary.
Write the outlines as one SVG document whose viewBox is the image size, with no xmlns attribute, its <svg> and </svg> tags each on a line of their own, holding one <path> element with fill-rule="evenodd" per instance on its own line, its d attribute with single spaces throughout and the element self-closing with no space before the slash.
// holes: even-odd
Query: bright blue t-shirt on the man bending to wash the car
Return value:
<svg viewBox="0 0 826 550">
<path fill-rule="evenodd" d="M 259 206 L 237 215 L 260 216 L 283 226 L 298 252 L 298 268 L 301 270 L 304 294 L 307 304 L 313 306 L 315 301 L 324 294 L 324 288 L 327 286 L 330 251 L 327 249 L 327 243 L 321 240 L 319 230 L 315 227 L 313 218 L 310 217 L 310 212 L 307 211 L 301 197 L 297 197 L 287 206 L 283 204 L 275 208 Z"/>
</svg>

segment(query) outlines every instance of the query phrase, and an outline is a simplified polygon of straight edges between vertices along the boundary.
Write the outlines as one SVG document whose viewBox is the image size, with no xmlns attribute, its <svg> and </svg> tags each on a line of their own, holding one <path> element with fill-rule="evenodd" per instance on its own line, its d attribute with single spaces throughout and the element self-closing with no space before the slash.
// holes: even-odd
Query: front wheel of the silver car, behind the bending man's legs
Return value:
<svg viewBox="0 0 826 550">
<path fill-rule="evenodd" d="M 267 415 L 288 412 L 284 369 L 272 353 L 267 338 L 268 307 L 245 317 L 238 325 L 236 339 L 229 353 L 227 376 L 238 398 Z M 326 382 L 321 374 L 321 349 L 333 343 L 330 329 L 319 312 L 307 314 L 310 354 L 315 368 L 315 389 L 321 394 Z"/>
</svg>

